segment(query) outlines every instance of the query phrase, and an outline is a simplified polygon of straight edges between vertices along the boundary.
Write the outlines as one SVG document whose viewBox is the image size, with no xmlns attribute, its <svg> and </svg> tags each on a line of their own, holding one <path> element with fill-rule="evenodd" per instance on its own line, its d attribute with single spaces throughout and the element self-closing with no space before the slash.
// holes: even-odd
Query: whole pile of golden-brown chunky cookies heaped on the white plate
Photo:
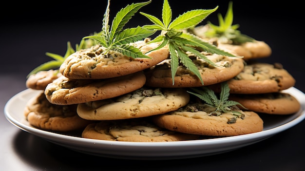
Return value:
<svg viewBox="0 0 305 171">
<path fill-rule="evenodd" d="M 149 38 L 135 46 L 143 53 L 158 46 L 147 41 Z M 84 138 L 182 141 L 260 132 L 264 121 L 259 113 L 293 114 L 300 108 L 293 96 L 280 93 L 292 87 L 295 80 L 279 64 L 252 63 L 249 58 L 202 52 L 217 65 L 190 55 L 204 85 L 182 65 L 172 84 L 167 47 L 148 53 L 151 58 L 132 58 L 117 52 L 104 57 L 103 50 L 94 45 L 77 51 L 66 58 L 59 70 L 30 76 L 27 87 L 43 91 L 26 105 L 28 122 L 50 131 L 80 130 Z M 213 107 L 188 93 L 190 88 L 203 86 L 221 93 L 224 82 L 230 88 L 229 98 L 241 104 L 235 106 L 239 116 L 211 114 Z M 271 106 L 273 101 L 289 101 L 294 107 Z"/>
</svg>

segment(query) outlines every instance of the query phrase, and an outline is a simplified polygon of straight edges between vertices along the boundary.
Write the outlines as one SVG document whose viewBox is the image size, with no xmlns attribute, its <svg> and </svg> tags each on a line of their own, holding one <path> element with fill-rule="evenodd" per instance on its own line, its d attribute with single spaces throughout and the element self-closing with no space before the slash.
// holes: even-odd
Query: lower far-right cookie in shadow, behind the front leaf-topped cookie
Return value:
<svg viewBox="0 0 305 171">
<path fill-rule="evenodd" d="M 239 102 L 249 111 L 265 114 L 294 114 L 301 108 L 300 102 L 287 93 L 230 94 L 229 99 Z"/>
</svg>

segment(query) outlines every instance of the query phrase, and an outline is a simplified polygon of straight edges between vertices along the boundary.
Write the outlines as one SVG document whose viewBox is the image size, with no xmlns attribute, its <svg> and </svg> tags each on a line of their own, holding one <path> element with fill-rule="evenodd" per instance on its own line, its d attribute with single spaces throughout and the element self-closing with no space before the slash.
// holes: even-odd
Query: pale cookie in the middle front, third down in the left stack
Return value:
<svg viewBox="0 0 305 171">
<path fill-rule="evenodd" d="M 189 100 L 189 93 L 182 88 L 142 87 L 111 99 L 78 104 L 77 114 L 88 120 L 138 118 L 175 111 Z"/>
</svg>

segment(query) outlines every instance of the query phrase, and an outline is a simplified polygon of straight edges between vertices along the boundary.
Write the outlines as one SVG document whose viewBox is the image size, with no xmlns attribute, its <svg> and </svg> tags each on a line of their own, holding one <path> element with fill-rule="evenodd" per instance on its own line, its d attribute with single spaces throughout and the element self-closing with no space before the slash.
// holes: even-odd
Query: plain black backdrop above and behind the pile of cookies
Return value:
<svg viewBox="0 0 305 171">
<path fill-rule="evenodd" d="M 111 0 L 110 19 L 127 4 L 145 0 Z M 99 32 L 106 9 L 107 0 L 47 0 L 38 2 L 9 1 L 0 10 L 0 49 L 2 57 L 9 62 L 0 67 L 2 72 L 23 70 L 21 79 L 43 62 L 52 60 L 45 56 L 51 52 L 64 56 L 67 41 L 75 47 L 81 38 Z M 229 0 L 187 0 L 178 2 L 169 0 L 172 19 L 193 9 L 218 9 L 204 19 L 218 25 L 217 14 L 225 16 Z M 139 11 L 161 19 L 163 0 L 152 2 Z M 291 68 L 291 74 L 300 71 L 304 65 L 303 39 L 304 12 L 297 0 L 272 3 L 267 0 L 233 1 L 233 24 L 239 24 L 239 30 L 252 38 L 265 41 L 272 48 L 272 55 L 266 62 L 280 62 L 284 68 Z M 126 27 L 152 24 L 136 13 Z M 4 53 L 3 53 L 4 52 Z M 301 52 L 301 53 L 300 53 Z M 20 75 L 19 75 L 20 76 Z M 302 79 L 302 78 L 300 78 Z M 296 87 L 301 88 L 298 80 Z M 303 88 L 303 87 L 302 87 Z M 303 89 L 304 91 L 304 89 Z"/>
</svg>

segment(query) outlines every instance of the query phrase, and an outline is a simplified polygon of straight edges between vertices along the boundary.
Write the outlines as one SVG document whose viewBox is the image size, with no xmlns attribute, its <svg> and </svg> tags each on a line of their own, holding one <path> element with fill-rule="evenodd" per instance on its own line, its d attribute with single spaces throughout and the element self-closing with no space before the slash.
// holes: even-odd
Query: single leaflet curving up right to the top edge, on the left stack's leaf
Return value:
<svg viewBox="0 0 305 171">
<path fill-rule="evenodd" d="M 109 40 L 112 41 L 116 35 L 123 29 L 125 24 L 134 16 L 134 14 L 143 6 L 151 3 L 152 0 L 141 3 L 132 3 L 131 5 L 127 5 L 125 8 L 122 8 L 112 22 L 111 32 Z"/>
</svg>

